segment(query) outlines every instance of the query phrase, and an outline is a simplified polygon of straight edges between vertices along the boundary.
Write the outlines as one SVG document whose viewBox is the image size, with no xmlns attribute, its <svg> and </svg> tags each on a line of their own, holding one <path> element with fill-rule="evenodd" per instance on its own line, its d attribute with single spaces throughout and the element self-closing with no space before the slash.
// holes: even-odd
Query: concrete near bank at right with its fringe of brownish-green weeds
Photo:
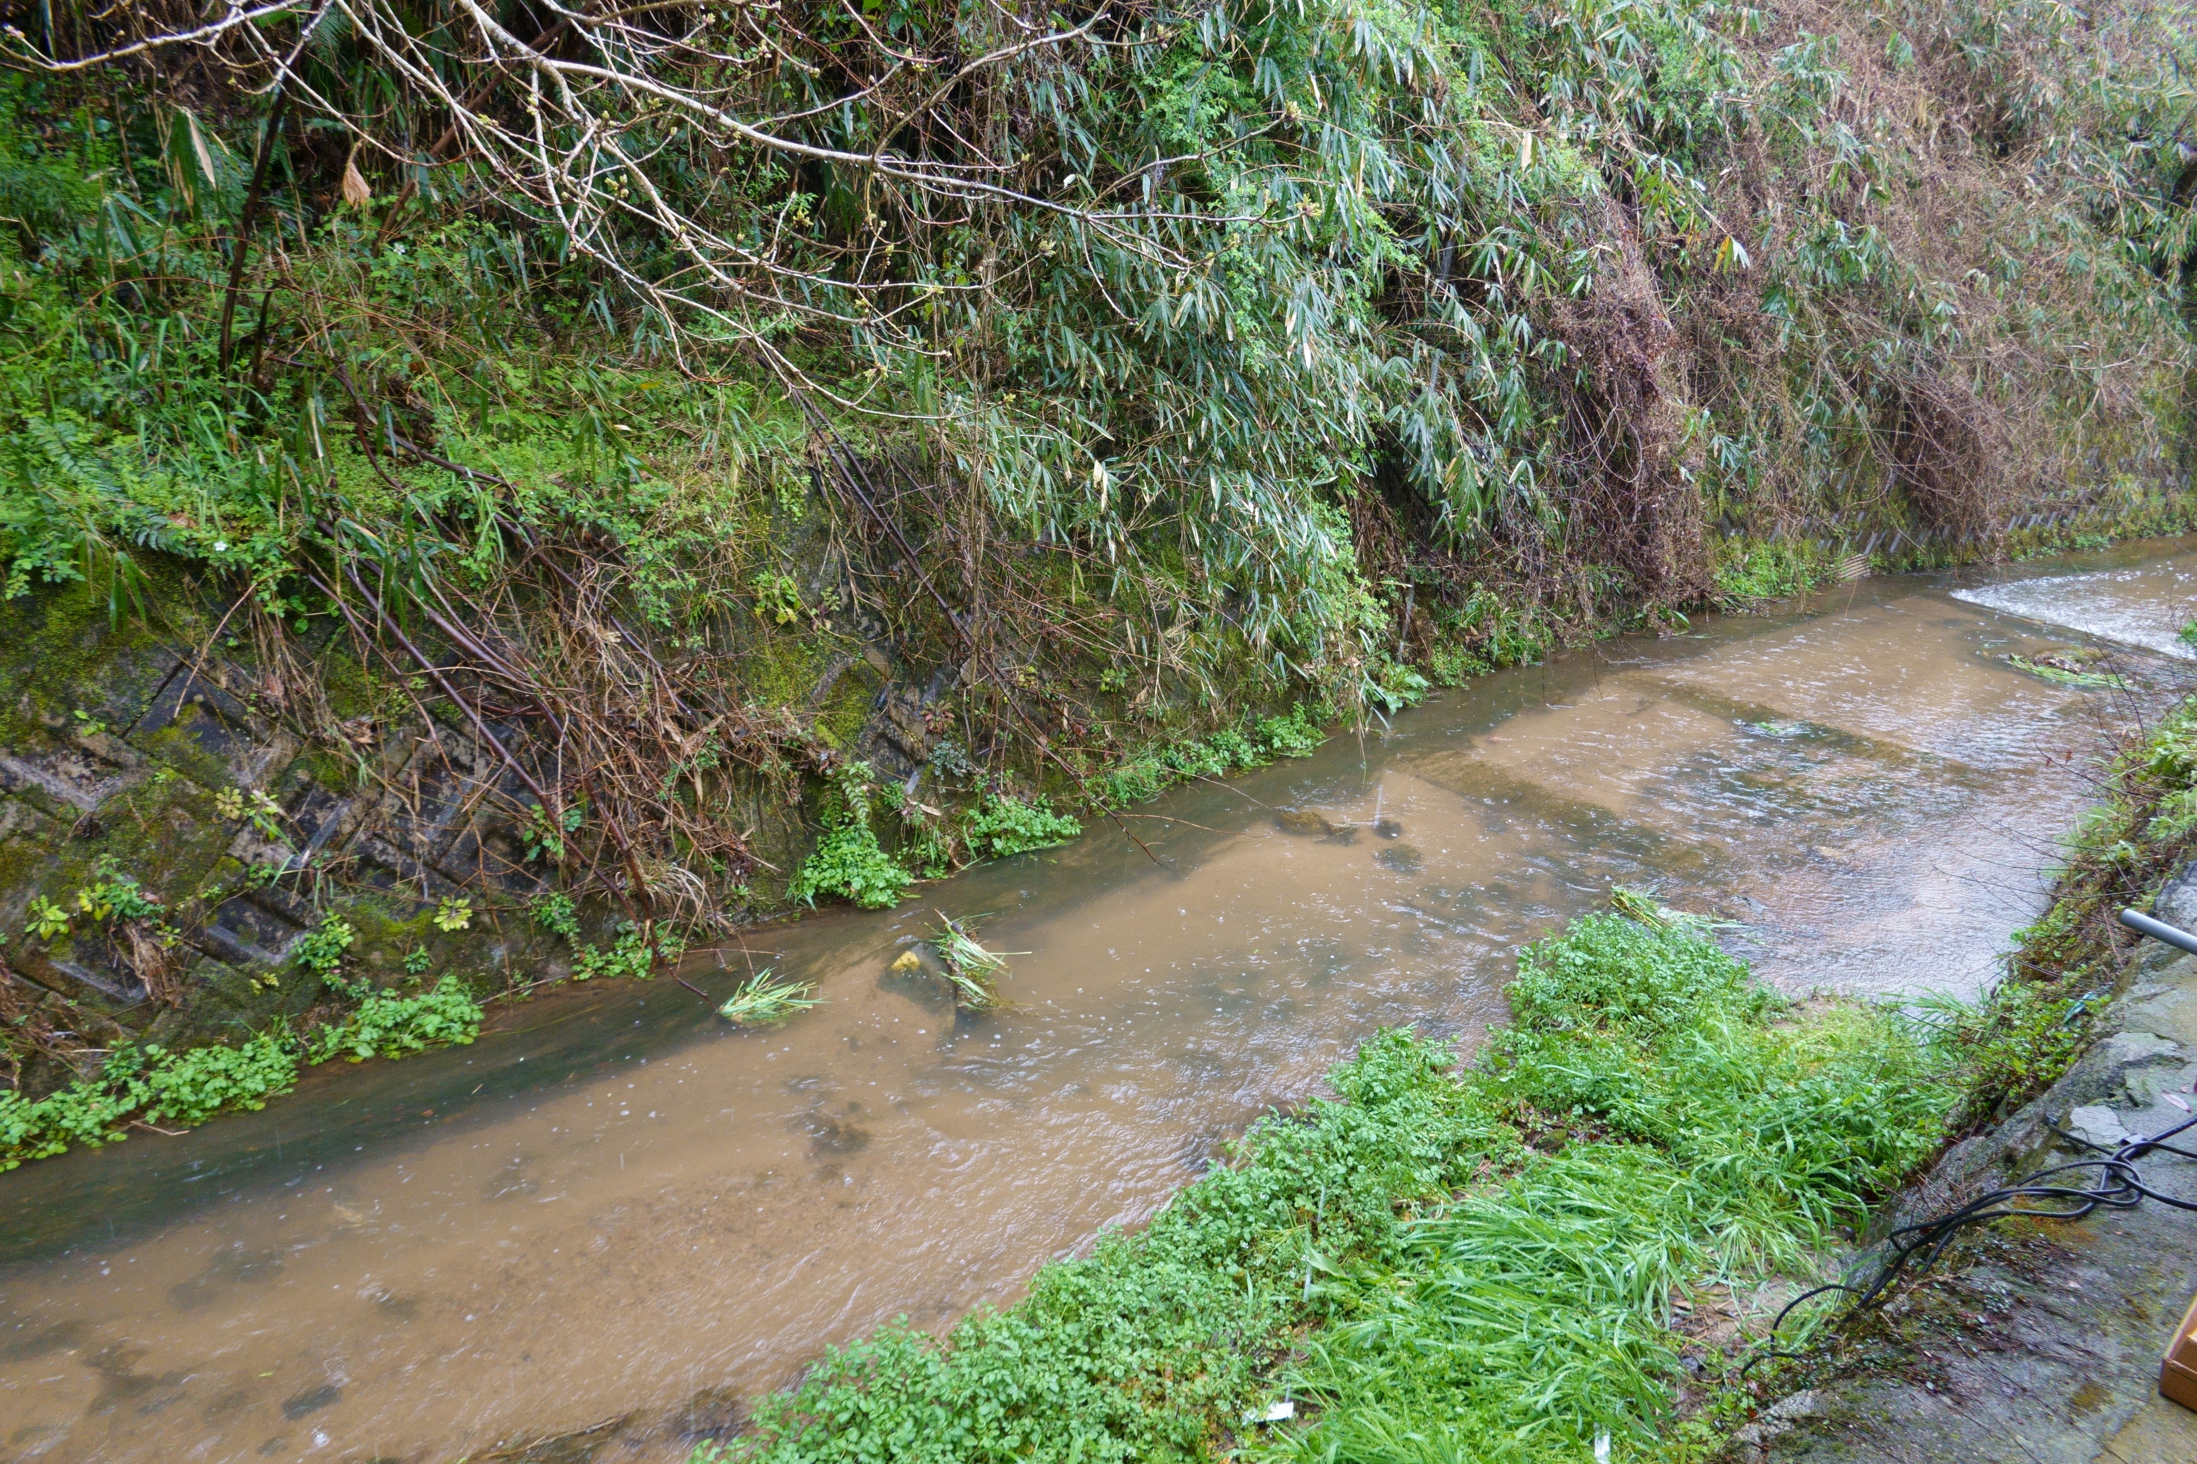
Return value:
<svg viewBox="0 0 2197 1464">
<path fill-rule="evenodd" d="M 2021 933 L 2015 975 L 1975 1029 L 1984 1065 L 2012 1084 L 1995 1111 L 1969 1115 L 1964 1126 L 1982 1126 L 1889 1203 L 1874 1234 L 2190 1115 L 2197 957 L 2135 939 L 2116 915 L 2135 906 L 2197 928 L 2193 737 L 2197 702 L 2182 702 L 2135 729 L 2105 768 L 2105 797 L 2070 836 L 2054 904 Z M 2019 1034 L 2028 1051 L 2008 1060 L 2001 1045 Z M 2146 1187 L 2197 1201 L 2197 1161 L 2151 1152 L 2140 1170 Z M 2153 1198 L 2076 1223 L 1971 1231 L 1927 1280 L 1782 1367 L 1780 1392 L 1797 1392 L 1747 1431 L 1736 1457 L 2197 1457 L 2197 1416 L 2157 1398 L 2160 1354 L 2197 1288 L 2193 1234 L 2188 1212 Z"/>
</svg>

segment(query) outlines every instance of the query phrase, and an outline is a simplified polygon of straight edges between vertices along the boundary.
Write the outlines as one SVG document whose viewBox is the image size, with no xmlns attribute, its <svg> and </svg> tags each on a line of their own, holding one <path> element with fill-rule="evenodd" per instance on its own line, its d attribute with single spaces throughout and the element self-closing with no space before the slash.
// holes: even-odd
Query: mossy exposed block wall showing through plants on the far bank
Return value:
<svg viewBox="0 0 2197 1464">
<path fill-rule="evenodd" d="M 472 727 L 363 713 L 343 722 L 347 744 L 310 744 L 283 716 L 301 689 L 272 685 L 231 634 L 228 597 L 182 579 L 152 590 L 149 617 L 83 584 L 0 601 L 0 1038 L 24 1093 L 68 1080 L 55 1049 L 237 1040 L 312 1012 L 325 983 L 294 955 L 330 913 L 356 931 L 347 968 L 384 983 L 406 957 L 481 992 L 571 972 L 567 939 L 527 917 L 547 878 L 508 812 L 523 788 Z M 365 678 L 319 634 L 288 650 L 334 700 Z M 938 676 L 896 685 L 890 654 L 859 634 L 787 656 L 787 705 L 846 755 L 885 777 L 923 762 Z M 525 759 L 525 724 L 490 729 Z M 808 810 L 760 779 L 747 803 L 751 847 L 798 869 Z M 81 909 L 114 878 L 154 896 L 176 939 L 152 950 Z M 444 900 L 470 902 L 466 928 L 435 924 Z M 33 931 L 33 902 L 68 931 Z M 756 880 L 756 906 L 729 913 L 771 902 Z M 609 944 L 620 911 L 580 920 L 584 942 Z"/>
</svg>

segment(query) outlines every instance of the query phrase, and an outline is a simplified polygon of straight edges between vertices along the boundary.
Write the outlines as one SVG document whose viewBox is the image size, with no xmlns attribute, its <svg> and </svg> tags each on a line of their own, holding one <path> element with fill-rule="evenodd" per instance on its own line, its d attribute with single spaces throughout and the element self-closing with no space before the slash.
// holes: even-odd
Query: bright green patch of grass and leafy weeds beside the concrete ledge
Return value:
<svg viewBox="0 0 2197 1464">
<path fill-rule="evenodd" d="M 1808 1275 L 1929 1155 L 1944 1060 L 1806 1016 L 1687 928 L 1575 922 L 1520 957 L 1485 1058 L 1384 1032 L 1136 1234 L 945 1337 L 830 1352 L 696 1460 L 1621 1457 L 1672 1405 L 1670 1302 Z M 1569 1133 L 1566 1133 L 1569 1130 Z M 1287 1394 L 1298 1424 L 1246 1411 Z"/>
</svg>

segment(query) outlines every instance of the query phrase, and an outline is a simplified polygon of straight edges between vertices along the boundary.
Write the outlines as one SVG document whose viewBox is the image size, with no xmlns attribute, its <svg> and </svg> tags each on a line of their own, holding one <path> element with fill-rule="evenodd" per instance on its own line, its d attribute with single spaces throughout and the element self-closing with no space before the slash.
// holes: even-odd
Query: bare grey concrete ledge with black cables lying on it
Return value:
<svg viewBox="0 0 2197 1464">
<path fill-rule="evenodd" d="M 2197 871 L 2155 911 L 2197 926 Z M 2193 1084 L 2197 957 L 2144 942 L 2087 1054 L 2043 1097 L 1947 1152 L 1878 1231 L 2171 1128 L 2190 1117 Z M 2197 1161 L 2151 1152 L 2140 1168 L 2146 1187 L 2197 1201 Z M 1852 1328 L 1841 1372 L 1766 1407 L 1727 1457 L 2190 1464 L 2197 1414 L 2157 1396 L 2157 1372 L 2193 1291 L 2197 1214 L 2146 1198 L 2074 1223 L 2001 1220 Z"/>
</svg>

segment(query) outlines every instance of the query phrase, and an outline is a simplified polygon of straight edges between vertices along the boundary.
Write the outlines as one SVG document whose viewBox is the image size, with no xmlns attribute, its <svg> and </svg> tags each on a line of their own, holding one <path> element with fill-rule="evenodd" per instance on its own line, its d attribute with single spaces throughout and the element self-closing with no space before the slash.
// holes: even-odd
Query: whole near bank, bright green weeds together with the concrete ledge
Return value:
<svg viewBox="0 0 2197 1464">
<path fill-rule="evenodd" d="M 1147 1231 L 830 1352 L 694 1460 L 2186 1460 L 2197 1427 L 2149 1398 L 2197 1262 L 2157 1203 L 2001 1223 L 1889 1306 L 1769 1321 L 1872 1234 L 2188 1115 L 2197 957 L 2111 915 L 2186 852 L 2193 740 L 2197 698 L 2114 757 L 1973 1007 L 1793 1007 L 1624 896 L 1520 953 L 1474 1062 L 1384 1034 Z M 2153 909 L 2197 926 L 2197 876 Z M 2197 1163 L 2144 1172 L 2197 1198 Z"/>
</svg>

